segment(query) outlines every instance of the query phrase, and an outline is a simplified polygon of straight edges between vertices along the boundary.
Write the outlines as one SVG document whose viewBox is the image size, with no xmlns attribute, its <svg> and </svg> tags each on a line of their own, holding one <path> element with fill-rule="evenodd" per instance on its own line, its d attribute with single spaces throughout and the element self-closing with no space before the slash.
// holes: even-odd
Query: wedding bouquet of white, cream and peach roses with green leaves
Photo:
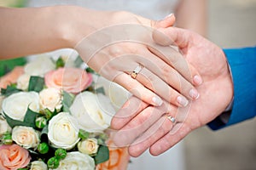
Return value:
<svg viewBox="0 0 256 170">
<path fill-rule="evenodd" d="M 108 129 L 129 96 L 62 49 L 0 78 L 0 169 L 125 169 Z"/>
</svg>

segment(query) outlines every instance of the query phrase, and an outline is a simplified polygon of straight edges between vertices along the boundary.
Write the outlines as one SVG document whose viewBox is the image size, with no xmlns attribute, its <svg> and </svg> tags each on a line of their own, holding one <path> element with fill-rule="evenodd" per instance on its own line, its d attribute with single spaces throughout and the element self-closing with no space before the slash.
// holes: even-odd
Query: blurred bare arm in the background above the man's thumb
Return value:
<svg viewBox="0 0 256 170">
<path fill-rule="evenodd" d="M 207 0 L 181 0 L 175 15 L 177 27 L 207 35 Z"/>
</svg>

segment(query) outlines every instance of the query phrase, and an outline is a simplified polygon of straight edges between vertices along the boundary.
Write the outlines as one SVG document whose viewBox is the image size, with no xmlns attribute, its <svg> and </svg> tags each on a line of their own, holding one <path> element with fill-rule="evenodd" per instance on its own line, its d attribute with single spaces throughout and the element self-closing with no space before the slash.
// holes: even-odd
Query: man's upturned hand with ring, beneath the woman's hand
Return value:
<svg viewBox="0 0 256 170">
<path fill-rule="evenodd" d="M 201 97 L 186 108 L 169 104 L 154 107 L 135 97 L 127 101 L 113 118 L 112 127 L 119 129 L 116 144 L 130 145 L 131 156 L 140 156 L 148 148 L 154 156 L 170 149 L 192 130 L 219 116 L 233 97 L 230 71 L 221 48 L 195 32 L 175 27 L 155 31 L 153 37 L 162 46 L 177 45 L 204 82 L 197 88 Z M 172 117 L 176 122 L 171 121 Z"/>
</svg>

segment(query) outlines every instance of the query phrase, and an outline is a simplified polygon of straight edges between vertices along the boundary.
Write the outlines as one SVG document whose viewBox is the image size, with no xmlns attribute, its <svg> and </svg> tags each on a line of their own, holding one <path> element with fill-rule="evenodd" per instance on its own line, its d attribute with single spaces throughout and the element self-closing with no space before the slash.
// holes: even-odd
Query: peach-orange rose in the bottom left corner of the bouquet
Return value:
<svg viewBox="0 0 256 170">
<path fill-rule="evenodd" d="M 18 144 L 0 146 L 0 169 L 15 170 L 26 167 L 31 157 L 26 149 Z"/>
</svg>

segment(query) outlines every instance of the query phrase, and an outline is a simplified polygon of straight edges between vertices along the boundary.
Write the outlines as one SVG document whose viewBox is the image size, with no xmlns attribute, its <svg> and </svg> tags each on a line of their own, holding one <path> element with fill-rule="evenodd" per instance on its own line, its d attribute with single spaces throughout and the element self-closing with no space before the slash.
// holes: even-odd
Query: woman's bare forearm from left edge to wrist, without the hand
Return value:
<svg viewBox="0 0 256 170">
<path fill-rule="evenodd" d="M 73 6 L 0 8 L 0 16 L 0 59 L 73 48 L 91 31 L 89 10 Z"/>
</svg>

